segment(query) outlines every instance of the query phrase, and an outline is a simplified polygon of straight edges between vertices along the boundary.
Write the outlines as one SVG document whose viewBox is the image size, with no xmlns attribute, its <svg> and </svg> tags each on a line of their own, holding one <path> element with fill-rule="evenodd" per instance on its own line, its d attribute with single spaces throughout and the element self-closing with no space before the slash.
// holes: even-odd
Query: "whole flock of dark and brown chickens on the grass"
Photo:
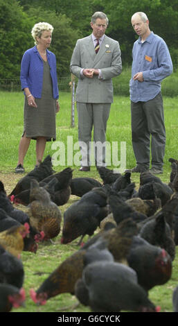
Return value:
<svg viewBox="0 0 178 326">
<path fill-rule="evenodd" d="M 178 161 L 170 163 L 168 185 L 146 171 L 138 191 L 130 171 L 121 175 L 100 167 L 102 183 L 73 178 L 69 167 L 55 173 L 50 155 L 9 195 L 0 181 L 0 311 L 24 304 L 21 251 L 37 252 L 39 241 L 53 241 L 60 232 L 63 244 L 80 237 L 80 249 L 37 291 L 30 290 L 34 302 L 46 304 L 55 295 L 71 293 L 91 311 L 159 311 L 148 292 L 170 280 L 178 245 Z M 59 206 L 71 194 L 80 199 L 62 217 Z M 82 243 L 86 234 L 89 240 Z M 172 304 L 178 311 L 178 287 Z"/>
</svg>

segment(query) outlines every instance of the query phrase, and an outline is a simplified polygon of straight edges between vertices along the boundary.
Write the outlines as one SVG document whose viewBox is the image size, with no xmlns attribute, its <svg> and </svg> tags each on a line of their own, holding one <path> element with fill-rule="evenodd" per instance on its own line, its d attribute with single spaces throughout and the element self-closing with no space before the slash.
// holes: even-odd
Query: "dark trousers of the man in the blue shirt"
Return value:
<svg viewBox="0 0 178 326">
<path fill-rule="evenodd" d="M 163 98 L 161 92 L 147 102 L 131 102 L 132 146 L 136 164 L 162 169 L 166 146 Z"/>
</svg>

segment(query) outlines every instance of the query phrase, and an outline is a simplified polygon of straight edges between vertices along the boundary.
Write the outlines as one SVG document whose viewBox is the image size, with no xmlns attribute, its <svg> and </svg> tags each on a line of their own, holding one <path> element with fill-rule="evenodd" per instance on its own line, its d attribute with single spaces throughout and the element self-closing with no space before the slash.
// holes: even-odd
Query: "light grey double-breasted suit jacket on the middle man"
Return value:
<svg viewBox="0 0 178 326">
<path fill-rule="evenodd" d="M 100 69 L 102 79 L 81 78 L 81 69 Z M 77 41 L 71 58 L 70 70 L 78 77 L 76 101 L 80 103 L 112 103 L 112 78 L 121 74 L 121 50 L 117 41 L 105 35 L 100 50 L 95 53 L 91 35 Z"/>
</svg>

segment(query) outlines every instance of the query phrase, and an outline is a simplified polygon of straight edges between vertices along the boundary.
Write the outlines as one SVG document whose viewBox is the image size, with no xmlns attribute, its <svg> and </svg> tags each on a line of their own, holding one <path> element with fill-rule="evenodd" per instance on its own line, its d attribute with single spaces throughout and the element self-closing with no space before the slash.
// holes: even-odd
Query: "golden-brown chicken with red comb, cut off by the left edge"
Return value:
<svg viewBox="0 0 178 326">
<path fill-rule="evenodd" d="M 29 224 L 25 223 L 24 225 L 13 226 L 6 231 L 0 232 L 1 246 L 19 258 L 21 251 L 24 249 L 24 238 L 30 232 L 29 228 Z"/>
</svg>

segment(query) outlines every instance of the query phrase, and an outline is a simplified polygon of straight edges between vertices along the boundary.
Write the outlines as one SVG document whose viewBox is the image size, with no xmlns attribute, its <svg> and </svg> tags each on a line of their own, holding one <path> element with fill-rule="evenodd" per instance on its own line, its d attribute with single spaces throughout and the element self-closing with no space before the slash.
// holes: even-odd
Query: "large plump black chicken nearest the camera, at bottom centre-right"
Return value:
<svg viewBox="0 0 178 326">
<path fill-rule="evenodd" d="M 114 261 L 95 261 L 87 265 L 82 279 L 75 284 L 75 295 L 96 312 L 159 311 L 138 284 L 136 272 Z"/>
</svg>

